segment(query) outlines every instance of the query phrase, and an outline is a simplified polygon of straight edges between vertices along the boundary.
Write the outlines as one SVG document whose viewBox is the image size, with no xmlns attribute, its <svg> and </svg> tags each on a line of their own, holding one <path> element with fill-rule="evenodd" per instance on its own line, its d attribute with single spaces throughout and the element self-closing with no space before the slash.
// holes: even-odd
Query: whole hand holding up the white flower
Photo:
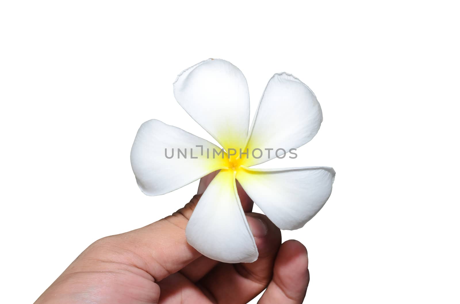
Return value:
<svg viewBox="0 0 460 304">
<path fill-rule="evenodd" d="M 226 264 L 209 259 L 185 239 L 185 226 L 216 173 L 203 177 L 184 208 L 153 224 L 104 237 L 85 249 L 35 304 L 302 303 L 310 281 L 305 246 L 281 243 L 281 231 L 237 185 L 259 259 Z"/>
</svg>

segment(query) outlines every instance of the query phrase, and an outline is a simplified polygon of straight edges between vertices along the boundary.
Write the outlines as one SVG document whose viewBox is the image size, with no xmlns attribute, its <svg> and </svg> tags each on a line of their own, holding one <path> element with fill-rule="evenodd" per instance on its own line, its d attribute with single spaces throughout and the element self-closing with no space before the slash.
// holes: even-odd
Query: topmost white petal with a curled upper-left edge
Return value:
<svg viewBox="0 0 460 304">
<path fill-rule="evenodd" d="M 240 148 L 249 126 L 249 90 L 243 73 L 222 59 L 208 59 L 180 73 L 174 97 L 224 148 Z"/>
</svg>

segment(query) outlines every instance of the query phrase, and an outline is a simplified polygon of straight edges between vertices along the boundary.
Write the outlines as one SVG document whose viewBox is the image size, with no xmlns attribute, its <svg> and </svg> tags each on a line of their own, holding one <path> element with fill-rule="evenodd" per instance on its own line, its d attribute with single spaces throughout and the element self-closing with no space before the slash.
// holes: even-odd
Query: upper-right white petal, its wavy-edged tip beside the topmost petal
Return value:
<svg viewBox="0 0 460 304">
<path fill-rule="evenodd" d="M 288 73 L 273 75 L 259 103 L 251 136 L 247 142 L 253 166 L 275 158 L 277 149 L 296 149 L 316 135 L 322 122 L 322 112 L 315 94 L 299 79 Z M 261 158 L 253 158 L 254 149 L 262 150 Z M 272 151 L 265 149 L 273 149 Z M 270 152 L 270 157 L 269 157 Z M 285 152 L 278 150 L 282 157 Z M 259 157 L 255 151 L 254 156 Z"/>
</svg>

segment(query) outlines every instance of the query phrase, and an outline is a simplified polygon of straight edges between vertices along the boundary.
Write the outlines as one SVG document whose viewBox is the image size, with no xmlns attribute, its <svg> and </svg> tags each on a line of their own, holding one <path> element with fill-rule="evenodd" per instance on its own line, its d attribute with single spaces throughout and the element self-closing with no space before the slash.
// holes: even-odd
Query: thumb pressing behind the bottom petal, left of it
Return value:
<svg viewBox="0 0 460 304">
<path fill-rule="evenodd" d="M 195 195 L 183 208 L 155 223 L 94 242 L 79 259 L 133 265 L 161 281 L 201 256 L 185 238 L 185 227 L 200 197 Z"/>
</svg>

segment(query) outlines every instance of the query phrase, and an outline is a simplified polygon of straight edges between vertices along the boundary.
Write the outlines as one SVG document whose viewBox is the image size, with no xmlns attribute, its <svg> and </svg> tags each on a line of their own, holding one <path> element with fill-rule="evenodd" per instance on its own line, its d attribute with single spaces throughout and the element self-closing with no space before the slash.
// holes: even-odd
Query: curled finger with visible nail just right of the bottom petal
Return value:
<svg viewBox="0 0 460 304">
<path fill-rule="evenodd" d="M 263 214 L 247 214 L 259 250 L 253 263 L 219 264 L 197 285 L 218 303 L 247 303 L 261 293 L 270 282 L 281 231 Z M 238 291 L 238 292 L 235 292 Z"/>
</svg>

